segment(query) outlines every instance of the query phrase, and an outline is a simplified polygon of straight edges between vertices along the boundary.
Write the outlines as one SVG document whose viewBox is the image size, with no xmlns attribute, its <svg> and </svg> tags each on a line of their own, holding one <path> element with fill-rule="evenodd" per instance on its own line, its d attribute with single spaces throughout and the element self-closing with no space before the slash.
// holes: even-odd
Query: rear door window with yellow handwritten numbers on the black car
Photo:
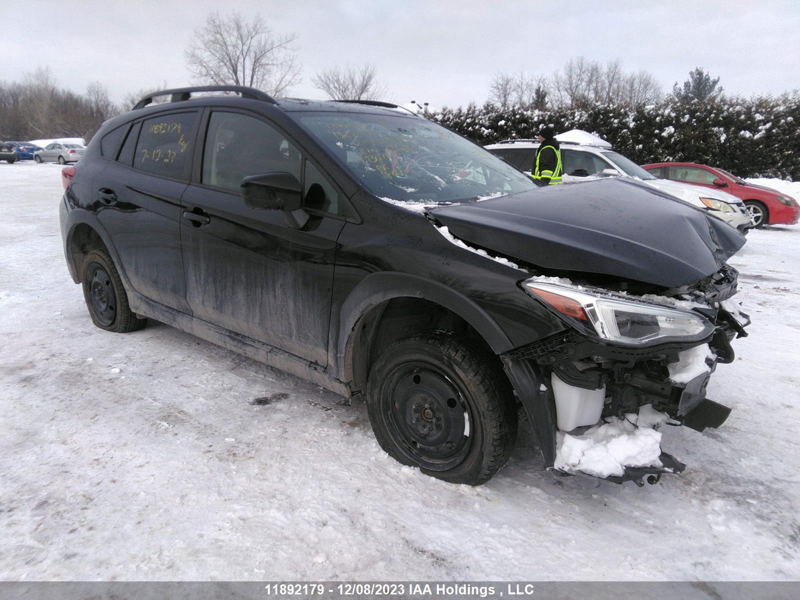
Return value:
<svg viewBox="0 0 800 600">
<path fill-rule="evenodd" d="M 190 112 L 159 114 L 142 121 L 134 167 L 154 175 L 186 178 L 196 119 L 197 113 Z"/>
</svg>

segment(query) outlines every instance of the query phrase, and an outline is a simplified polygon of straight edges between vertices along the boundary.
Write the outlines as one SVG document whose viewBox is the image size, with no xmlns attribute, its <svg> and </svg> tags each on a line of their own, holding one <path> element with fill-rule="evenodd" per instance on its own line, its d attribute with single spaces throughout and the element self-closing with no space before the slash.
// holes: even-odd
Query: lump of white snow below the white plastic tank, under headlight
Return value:
<svg viewBox="0 0 800 600">
<path fill-rule="evenodd" d="M 627 466 L 662 466 L 661 433 L 655 428 L 669 420 L 648 404 L 624 419 L 608 417 L 582 435 L 558 432 L 555 468 L 595 477 L 621 476 Z"/>
</svg>

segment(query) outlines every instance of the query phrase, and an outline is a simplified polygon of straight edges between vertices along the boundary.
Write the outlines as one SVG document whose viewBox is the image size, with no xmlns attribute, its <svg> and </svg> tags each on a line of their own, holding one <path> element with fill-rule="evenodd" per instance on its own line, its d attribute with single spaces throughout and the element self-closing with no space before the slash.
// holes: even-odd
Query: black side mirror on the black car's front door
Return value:
<svg viewBox="0 0 800 600">
<path fill-rule="evenodd" d="M 309 214 L 302 210 L 302 186 L 291 173 L 263 173 L 242 179 L 242 200 L 255 210 L 282 210 L 286 225 L 302 229 Z"/>
</svg>

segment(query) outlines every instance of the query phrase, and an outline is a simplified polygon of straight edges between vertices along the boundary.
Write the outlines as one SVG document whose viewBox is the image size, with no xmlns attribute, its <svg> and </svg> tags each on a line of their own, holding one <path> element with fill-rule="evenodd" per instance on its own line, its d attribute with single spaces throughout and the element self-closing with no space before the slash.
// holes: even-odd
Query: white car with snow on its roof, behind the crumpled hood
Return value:
<svg viewBox="0 0 800 600">
<path fill-rule="evenodd" d="M 742 233 L 753 226 L 747 207 L 731 194 L 717 189 L 700 192 L 686 183 L 658 179 L 629 158 L 614 152 L 610 143 L 586 131 L 568 131 L 566 134 L 558 134 L 556 139 L 561 144 L 564 183 L 586 182 L 605 177 L 634 177 L 657 190 L 706 210 Z M 575 141 L 571 141 L 572 139 Z M 486 150 L 530 175 L 538 147 L 539 142 L 534 140 L 511 139 L 490 144 L 486 146 Z"/>
</svg>

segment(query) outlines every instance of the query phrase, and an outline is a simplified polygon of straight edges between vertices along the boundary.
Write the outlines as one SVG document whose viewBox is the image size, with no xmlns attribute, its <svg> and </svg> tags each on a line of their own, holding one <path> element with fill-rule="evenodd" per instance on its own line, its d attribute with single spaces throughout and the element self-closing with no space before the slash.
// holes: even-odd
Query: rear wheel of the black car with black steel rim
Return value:
<svg viewBox="0 0 800 600">
<path fill-rule="evenodd" d="M 146 319 L 137 318 L 130 311 L 122 279 L 105 250 L 92 250 L 86 254 L 81 281 L 86 307 L 92 322 L 100 329 L 126 334 L 146 325 Z"/>
</svg>

